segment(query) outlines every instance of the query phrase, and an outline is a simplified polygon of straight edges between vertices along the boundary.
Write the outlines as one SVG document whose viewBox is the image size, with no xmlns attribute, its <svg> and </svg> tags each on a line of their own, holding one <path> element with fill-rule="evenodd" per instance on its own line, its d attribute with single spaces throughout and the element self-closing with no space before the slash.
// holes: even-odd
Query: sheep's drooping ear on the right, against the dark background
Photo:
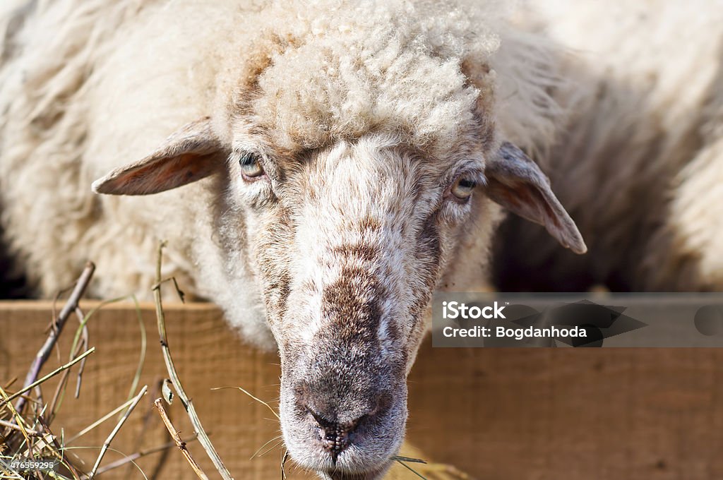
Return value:
<svg viewBox="0 0 723 480">
<path fill-rule="evenodd" d="M 502 143 L 484 169 L 487 196 L 502 207 L 547 228 L 547 231 L 575 253 L 587 251 L 578 227 L 560 205 L 549 179 L 527 155 L 510 142 Z"/>
</svg>

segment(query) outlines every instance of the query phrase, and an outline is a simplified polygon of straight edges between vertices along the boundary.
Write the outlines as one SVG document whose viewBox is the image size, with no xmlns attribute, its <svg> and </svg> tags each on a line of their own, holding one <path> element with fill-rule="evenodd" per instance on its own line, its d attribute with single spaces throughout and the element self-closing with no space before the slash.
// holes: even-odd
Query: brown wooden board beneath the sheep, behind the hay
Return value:
<svg viewBox="0 0 723 480">
<path fill-rule="evenodd" d="M 168 306 L 166 315 L 181 380 L 228 468 L 236 479 L 279 478 L 280 447 L 251 459 L 279 434 L 272 413 L 238 390 L 210 390 L 241 386 L 275 404 L 281 373 L 275 353 L 245 346 L 209 304 Z M 0 302 L 3 385 L 12 377 L 25 377 L 50 317 L 47 302 Z M 141 385 L 154 390 L 166 374 L 152 305 L 142 305 L 142 317 L 147 357 Z M 43 372 L 67 361 L 76 326 L 69 323 L 62 335 L 62 359 L 51 358 Z M 127 398 L 140 353 L 132 305 L 111 305 L 96 313 L 90 320 L 90 344 L 97 351 L 87 361 L 80 398 L 64 398 L 53 424 L 56 434 L 62 427 L 71 436 Z M 74 382 L 72 375 L 72 387 Z M 54 385 L 44 388 L 46 398 Z M 425 459 L 450 463 L 476 479 L 723 479 L 723 349 L 462 349 L 432 348 L 427 341 L 409 390 L 408 442 Z M 156 396 L 142 401 L 114 448 L 132 453 L 167 441 L 153 412 L 147 415 L 142 445 L 137 445 Z M 170 410 L 182 434 L 192 434 L 181 406 Z M 77 446 L 101 445 L 114 423 L 115 417 Z M 213 473 L 200 447 L 189 447 Z M 74 453 L 92 465 L 98 450 Z M 159 456 L 139 465 L 150 473 Z M 119 454 L 108 453 L 103 464 L 117 458 Z M 290 479 L 315 478 L 289 470 Z M 120 468 L 101 478 L 142 476 Z M 195 477 L 179 452 L 170 450 L 158 478 Z"/>
</svg>

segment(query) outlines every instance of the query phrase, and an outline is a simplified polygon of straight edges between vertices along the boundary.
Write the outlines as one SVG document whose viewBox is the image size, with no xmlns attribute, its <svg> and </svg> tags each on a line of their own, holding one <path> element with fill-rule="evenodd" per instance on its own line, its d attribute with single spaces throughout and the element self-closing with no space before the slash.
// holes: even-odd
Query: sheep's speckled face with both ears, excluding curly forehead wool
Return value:
<svg viewBox="0 0 723 480">
<path fill-rule="evenodd" d="M 212 210 L 228 291 L 216 300 L 234 318 L 234 297 L 260 291 L 281 353 L 288 451 L 328 479 L 376 479 L 403 439 L 432 292 L 491 230 L 492 200 L 584 249 L 534 163 L 510 144 L 478 143 L 432 157 L 367 134 L 289 152 L 253 129 L 226 145 L 203 119 L 94 187 L 155 193 L 221 170 Z"/>
</svg>

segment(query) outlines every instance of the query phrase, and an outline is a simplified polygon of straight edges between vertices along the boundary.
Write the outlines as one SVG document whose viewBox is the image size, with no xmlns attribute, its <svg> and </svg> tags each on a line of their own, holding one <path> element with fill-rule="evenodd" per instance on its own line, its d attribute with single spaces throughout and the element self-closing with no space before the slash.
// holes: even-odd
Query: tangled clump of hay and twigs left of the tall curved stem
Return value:
<svg viewBox="0 0 723 480">
<path fill-rule="evenodd" d="M 147 478 L 145 473 L 137 466 L 135 460 L 145 455 L 168 450 L 175 445 L 174 442 L 168 442 L 158 447 L 138 450 L 130 455 L 124 455 L 124 458 L 116 460 L 106 466 L 100 466 L 106 452 L 108 450 L 114 450 L 111 447 L 114 437 L 116 437 L 116 434 L 123 427 L 125 421 L 133 413 L 134 408 L 140 402 L 141 398 L 147 393 L 148 387 L 144 385 L 140 387 L 140 389 L 138 388 L 140 374 L 145 362 L 146 343 L 145 327 L 143 327 L 142 324 L 140 307 L 134 297 L 126 296 L 104 301 L 87 314 L 84 314 L 78 305 L 87 284 L 90 283 L 93 277 L 94 271 L 94 265 L 89 263 L 77 280 L 74 288 L 72 288 L 72 293 L 70 293 L 64 307 L 60 312 L 56 312 L 55 308 L 53 309 L 53 320 L 48 337 L 31 362 L 23 385 L 18 387 L 17 390 L 12 391 L 12 387 L 17 382 L 17 379 L 14 379 L 7 382 L 4 387 L 0 386 L 0 478 L 91 480 L 102 473 L 124 465 L 136 466 L 142 476 Z M 137 317 L 142 327 L 142 342 L 138 366 L 132 385 L 129 387 L 128 399 L 117 408 L 111 410 L 110 413 L 94 421 L 72 437 L 65 435 L 65 429 L 63 427 L 56 429 L 56 426 L 54 426 L 53 429 L 51 429 L 51 424 L 53 424 L 56 413 L 58 413 L 61 408 L 62 399 L 69 385 L 70 372 L 73 369 L 77 369 L 77 382 L 74 389 L 74 396 L 77 398 L 80 395 L 82 387 L 83 366 L 87 358 L 95 353 L 95 347 L 89 348 L 88 346 L 87 323 L 91 320 L 93 314 L 103 306 L 129 298 L 132 298 L 136 305 Z M 51 356 L 51 352 L 54 350 L 59 352 L 57 345 L 58 339 L 65 330 L 67 321 L 73 314 L 77 316 L 79 325 L 74 335 L 72 347 L 70 348 L 68 361 L 38 379 L 41 369 Z M 54 396 L 50 402 L 46 402 L 43 398 L 42 387 L 48 383 L 48 380 L 57 376 L 60 376 L 60 379 Z M 111 419 L 116 413 L 119 414 L 116 426 L 108 435 L 106 441 L 103 442 L 103 445 L 95 447 L 99 450 L 98 457 L 92 468 L 88 469 L 82 460 L 72 452 L 72 450 L 80 447 L 72 447 L 70 444 L 100 424 L 108 421 L 108 419 Z M 55 431 L 62 433 L 56 434 Z M 190 437 L 182 441 L 186 443 L 194 440 L 195 437 Z M 37 468 L 32 468 L 33 465 L 30 462 L 43 462 L 47 465 L 52 463 L 54 466 L 47 471 L 40 471 Z"/>
</svg>

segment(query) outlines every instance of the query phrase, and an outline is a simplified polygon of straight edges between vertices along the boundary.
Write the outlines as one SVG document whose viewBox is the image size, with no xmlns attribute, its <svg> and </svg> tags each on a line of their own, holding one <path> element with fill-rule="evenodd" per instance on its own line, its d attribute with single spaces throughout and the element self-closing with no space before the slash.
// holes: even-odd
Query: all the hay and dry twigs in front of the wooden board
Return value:
<svg viewBox="0 0 723 480">
<path fill-rule="evenodd" d="M 40 347 L 35 359 L 31 362 L 30 369 L 28 370 L 25 381 L 22 386 L 12 387 L 17 382 L 17 379 L 7 382 L 4 387 L 0 384 L 0 478 L 3 479 L 73 479 L 73 480 L 92 480 L 97 476 L 102 475 L 108 471 L 113 471 L 121 466 L 128 466 L 129 468 L 135 468 L 137 473 L 142 478 L 149 479 L 155 478 L 158 472 L 161 470 L 161 466 L 170 455 L 170 450 L 173 447 L 177 447 L 181 450 L 182 455 L 187 459 L 192 471 L 200 479 L 207 479 L 208 476 L 202 471 L 198 463 L 192 458 L 191 453 L 187 449 L 186 445 L 189 442 L 200 440 L 200 444 L 204 447 L 204 450 L 211 458 L 212 462 L 216 466 L 218 473 L 223 479 L 233 479 L 231 473 L 226 470 L 223 466 L 221 458 L 218 458 L 218 454 L 215 453 L 215 449 L 208 439 L 208 435 L 205 433 L 200 419 L 193 408 L 192 400 L 185 393 L 179 374 L 176 372 L 174 367 L 173 359 L 171 356 L 171 348 L 168 345 L 168 338 L 166 337 L 166 325 L 165 315 L 163 314 L 163 305 L 161 304 L 161 286 L 163 283 L 172 282 L 176 288 L 176 292 L 179 293 L 181 300 L 183 299 L 183 293 L 180 291 L 178 284 L 174 278 L 161 279 L 161 258 L 163 253 L 164 244 L 160 244 L 158 248 L 158 282 L 153 286 L 153 292 L 156 301 L 156 314 L 158 320 L 158 332 L 161 338 L 161 351 L 163 353 L 163 359 L 166 362 L 166 369 L 168 371 L 168 377 L 170 380 L 165 379 L 158 382 L 150 393 L 151 398 L 156 398 L 152 406 L 146 413 L 145 422 L 140 432 L 137 433 L 137 445 L 134 453 L 124 454 L 120 453 L 111 446 L 116 434 L 124 428 L 127 419 L 134 414 L 135 407 L 139 404 L 141 398 L 149 392 L 148 386 L 143 385 L 139 388 L 141 372 L 146 358 L 146 343 L 145 338 L 145 325 L 143 324 L 142 315 L 140 312 L 140 306 L 134 296 L 123 296 L 116 299 L 100 302 L 95 308 L 91 309 L 90 312 L 84 313 L 79 307 L 79 301 L 82 293 L 85 291 L 87 283 L 90 282 L 93 277 L 94 266 L 88 264 L 86 270 L 80 276 L 77 283 L 72 288 L 72 292 L 69 293 L 68 299 L 64 304 L 64 307 L 56 312 L 53 309 L 53 320 L 48 331 L 48 338 L 46 338 L 43 346 Z M 70 290 L 70 289 L 68 289 Z M 82 367 L 87 359 L 93 359 L 95 348 L 89 345 L 90 338 L 88 334 L 87 325 L 93 320 L 93 314 L 98 312 L 99 309 L 105 307 L 108 304 L 113 304 L 118 301 L 132 300 L 135 305 L 135 313 L 137 314 L 137 320 L 141 327 L 141 341 L 140 341 L 140 352 L 138 355 L 138 364 L 131 385 L 129 386 L 129 393 L 127 398 L 118 399 L 116 406 L 108 406 L 108 413 L 100 418 L 95 419 L 87 427 L 80 429 L 79 432 L 66 435 L 64 427 L 53 424 L 56 414 L 60 411 L 64 395 L 69 385 L 69 379 L 72 372 L 75 372 L 77 381 L 74 388 L 74 397 L 77 398 L 80 395 L 82 389 Z M 56 299 L 57 300 L 57 299 Z M 72 337 L 72 344 L 69 348 L 67 361 L 61 364 L 53 371 L 44 376 L 40 377 L 40 370 L 45 366 L 46 361 L 50 357 L 51 351 L 56 350 L 58 358 L 63 358 L 60 352 L 58 339 L 61 333 L 65 330 L 67 321 L 72 316 L 77 317 L 78 325 Z M 40 378 L 38 378 L 40 377 Z M 46 401 L 42 395 L 42 387 L 46 386 L 48 380 L 58 377 L 57 386 L 55 387 L 54 395 L 50 401 Z M 265 402 L 261 398 L 253 395 L 249 390 L 243 387 L 216 387 L 212 390 L 221 390 L 224 388 L 233 388 L 241 391 L 245 395 L 248 395 L 253 400 L 261 403 L 268 408 L 273 415 L 275 420 L 279 421 L 278 409 Z M 194 427 L 194 435 L 192 437 L 181 438 L 179 432 L 173 426 L 171 419 L 168 419 L 161 398 L 165 399 L 167 403 L 170 403 L 173 398 L 179 398 L 182 406 L 186 410 L 189 419 Z M 16 403 L 13 403 L 16 402 Z M 141 448 L 142 436 L 147 427 L 148 421 L 153 416 L 153 409 L 158 412 L 166 425 L 166 429 L 169 433 L 169 440 L 163 445 L 158 445 L 150 448 Z M 91 447 L 76 447 L 72 445 L 74 442 L 84 437 L 88 432 L 98 428 L 101 424 L 117 416 L 115 426 L 111 433 L 106 437 L 103 445 L 91 446 Z M 51 424 L 53 428 L 51 429 Z M 56 434 L 55 432 L 60 432 Z M 134 432 L 134 434 L 136 434 Z M 276 442 L 267 450 L 263 451 L 268 445 Z M 288 478 L 287 473 L 287 460 L 289 460 L 288 451 L 283 449 L 283 440 L 281 437 L 275 437 L 264 445 L 262 445 L 256 453 L 252 455 L 252 458 L 257 456 L 265 455 L 278 447 L 282 447 L 281 458 L 280 458 L 280 473 L 281 479 Z M 86 465 L 79 456 L 75 455 L 73 450 L 80 448 L 94 448 L 98 449 L 99 453 L 95 462 L 92 466 Z M 123 455 L 119 460 L 115 460 L 111 463 L 103 465 L 103 459 L 108 450 L 112 450 L 116 453 Z M 138 466 L 136 460 L 151 455 L 153 453 L 163 452 L 163 457 L 158 461 L 154 468 L 152 475 L 147 475 L 142 468 Z M 418 452 L 413 452 L 412 455 L 416 455 Z M 216 460 L 214 460 L 214 455 Z M 54 460 L 56 466 L 52 471 L 40 472 L 27 470 L 14 466 L 16 460 L 43 460 L 51 459 Z M 449 479 L 463 479 L 469 478 L 463 475 L 452 475 L 448 466 L 442 466 L 440 464 L 426 464 L 424 460 L 419 458 L 407 457 L 407 456 L 395 456 L 392 458 L 396 463 L 399 463 L 404 467 L 403 471 L 406 471 L 405 476 L 401 471 L 396 473 L 390 472 L 390 476 L 393 478 L 410 478 L 409 475 L 413 475 L 414 478 L 426 479 L 424 473 L 429 472 L 432 478 L 449 478 Z M 418 471 L 412 468 L 409 463 L 422 465 L 424 471 Z M 429 469 L 431 467 L 432 469 Z M 443 468 L 442 468 L 443 467 Z M 401 467 L 399 467 L 401 469 Z M 129 476 L 130 472 L 126 475 Z M 440 476 L 441 475 L 441 476 Z"/>
</svg>

